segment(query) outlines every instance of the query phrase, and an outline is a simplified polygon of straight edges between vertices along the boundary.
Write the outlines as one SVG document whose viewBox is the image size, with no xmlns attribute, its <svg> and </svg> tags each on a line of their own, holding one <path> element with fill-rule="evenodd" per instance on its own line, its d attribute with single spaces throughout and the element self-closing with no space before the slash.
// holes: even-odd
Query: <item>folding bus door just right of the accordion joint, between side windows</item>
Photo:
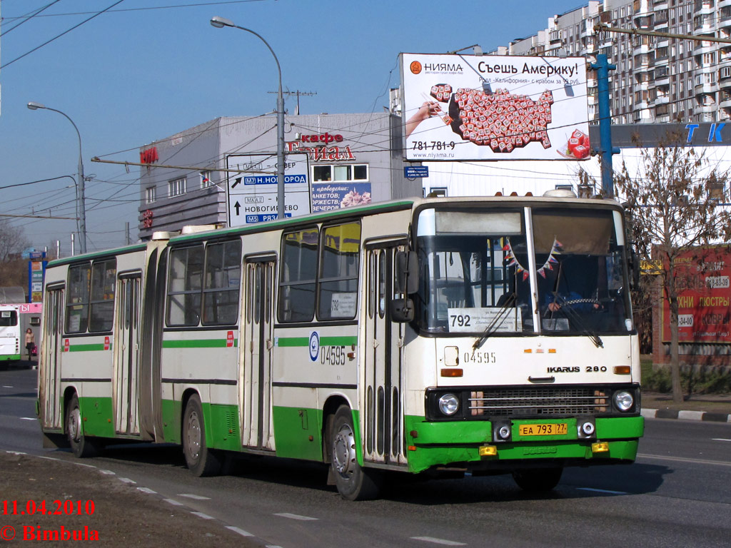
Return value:
<svg viewBox="0 0 731 548">
<path fill-rule="evenodd" d="M 273 256 L 246 258 L 239 382 L 242 444 L 251 449 L 272 451 L 272 292 L 275 265 Z"/>
</svg>

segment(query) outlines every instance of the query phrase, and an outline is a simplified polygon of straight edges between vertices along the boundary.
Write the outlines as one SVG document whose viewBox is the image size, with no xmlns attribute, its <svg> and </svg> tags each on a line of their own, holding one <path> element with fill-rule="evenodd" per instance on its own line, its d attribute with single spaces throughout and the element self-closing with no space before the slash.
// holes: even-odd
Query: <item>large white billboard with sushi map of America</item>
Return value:
<svg viewBox="0 0 731 548">
<path fill-rule="evenodd" d="M 401 54 L 412 161 L 586 160 L 586 59 Z"/>
</svg>

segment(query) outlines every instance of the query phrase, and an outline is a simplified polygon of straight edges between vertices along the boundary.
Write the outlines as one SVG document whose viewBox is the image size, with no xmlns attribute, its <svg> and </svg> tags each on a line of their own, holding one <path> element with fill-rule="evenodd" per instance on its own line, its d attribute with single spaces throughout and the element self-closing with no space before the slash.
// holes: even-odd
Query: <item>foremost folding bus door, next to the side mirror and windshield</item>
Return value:
<svg viewBox="0 0 731 548">
<path fill-rule="evenodd" d="M 391 465 L 404 454 L 404 325 L 391 320 L 393 266 L 403 240 L 366 246 L 366 365 L 363 424 L 365 459 Z"/>
</svg>

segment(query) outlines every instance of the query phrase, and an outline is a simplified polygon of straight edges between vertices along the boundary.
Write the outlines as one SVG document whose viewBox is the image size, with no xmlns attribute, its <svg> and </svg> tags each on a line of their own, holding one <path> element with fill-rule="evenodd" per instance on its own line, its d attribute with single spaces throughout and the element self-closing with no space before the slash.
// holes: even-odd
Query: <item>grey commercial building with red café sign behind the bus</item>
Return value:
<svg viewBox="0 0 731 548">
<path fill-rule="evenodd" d="M 404 178 L 397 115 L 288 115 L 284 130 L 288 169 L 304 166 L 287 175 L 287 216 L 421 194 L 420 180 Z M 276 199 L 267 205 L 262 194 L 276 195 L 276 115 L 216 118 L 140 148 L 140 162 L 149 164 L 140 168 L 142 240 L 276 217 Z M 289 194 L 290 180 L 306 181 L 309 203 Z"/>
</svg>

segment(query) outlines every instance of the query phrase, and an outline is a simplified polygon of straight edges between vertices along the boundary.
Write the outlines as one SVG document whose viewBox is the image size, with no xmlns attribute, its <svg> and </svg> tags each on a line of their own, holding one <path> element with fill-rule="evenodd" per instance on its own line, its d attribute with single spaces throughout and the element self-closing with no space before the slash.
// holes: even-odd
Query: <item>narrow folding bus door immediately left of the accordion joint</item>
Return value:
<svg viewBox="0 0 731 548">
<path fill-rule="evenodd" d="M 117 281 L 118 312 L 115 326 L 115 385 L 114 415 L 118 434 L 139 434 L 137 419 L 137 373 L 139 370 L 140 338 L 140 275 L 126 276 Z"/>
</svg>

